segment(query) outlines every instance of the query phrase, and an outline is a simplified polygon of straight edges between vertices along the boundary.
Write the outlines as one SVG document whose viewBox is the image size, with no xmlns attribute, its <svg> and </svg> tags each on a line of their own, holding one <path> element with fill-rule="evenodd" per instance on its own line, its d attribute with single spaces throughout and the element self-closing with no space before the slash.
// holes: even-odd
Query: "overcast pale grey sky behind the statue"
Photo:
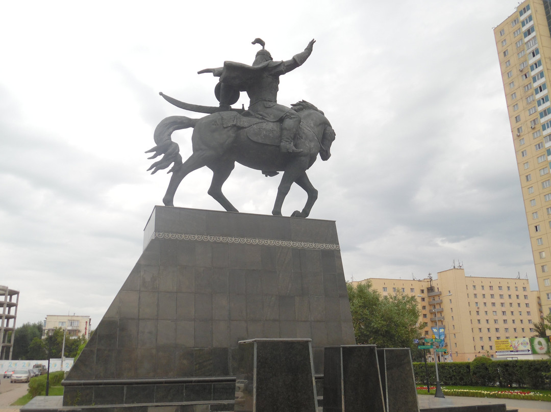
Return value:
<svg viewBox="0 0 551 412">
<path fill-rule="evenodd" d="M 97 326 L 142 251 L 169 177 L 146 172 L 153 130 L 216 105 L 224 60 L 266 41 L 289 59 L 278 101 L 305 99 L 337 132 L 312 166 L 311 218 L 336 220 L 347 279 L 528 276 L 530 241 L 492 28 L 512 0 L 366 2 L 7 2 L 0 36 L 0 284 L 20 291 L 18 325 L 46 315 Z M 242 96 L 234 107 L 248 105 Z M 173 138 L 191 154 L 190 132 Z M 222 210 L 208 169 L 179 207 Z M 279 177 L 237 166 L 224 186 L 241 212 L 269 214 Z M 291 189 L 283 213 L 301 209 Z"/>
</svg>

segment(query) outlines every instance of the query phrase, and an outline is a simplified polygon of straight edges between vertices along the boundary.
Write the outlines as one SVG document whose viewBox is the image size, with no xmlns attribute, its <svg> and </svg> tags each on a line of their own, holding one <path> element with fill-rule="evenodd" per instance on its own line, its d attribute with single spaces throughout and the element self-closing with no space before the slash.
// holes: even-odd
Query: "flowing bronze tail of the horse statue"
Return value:
<svg viewBox="0 0 551 412">
<path fill-rule="evenodd" d="M 151 149 L 147 150 L 145 153 L 155 152 L 148 159 L 155 159 L 159 155 L 163 155 L 161 160 L 154 162 L 148 169 L 153 171 L 153 175 L 156 171 L 161 169 L 166 169 L 172 163 L 174 166 L 168 171 L 169 173 L 175 168 L 180 167 L 182 164 L 182 156 L 180 156 L 180 147 L 177 143 L 172 142 L 172 132 L 181 129 L 187 129 L 190 127 L 195 127 L 199 119 L 192 119 L 186 116 L 169 116 L 165 117 L 159 122 L 157 127 L 155 127 L 155 132 L 153 133 L 153 140 L 156 145 Z"/>
</svg>

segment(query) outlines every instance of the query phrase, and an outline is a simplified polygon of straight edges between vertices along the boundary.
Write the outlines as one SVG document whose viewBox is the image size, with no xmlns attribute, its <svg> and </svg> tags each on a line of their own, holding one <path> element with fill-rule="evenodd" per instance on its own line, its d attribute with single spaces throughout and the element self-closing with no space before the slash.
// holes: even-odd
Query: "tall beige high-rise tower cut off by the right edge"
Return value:
<svg viewBox="0 0 551 412">
<path fill-rule="evenodd" d="M 550 27 L 551 0 L 526 0 L 494 29 L 542 315 L 551 312 Z"/>
</svg>

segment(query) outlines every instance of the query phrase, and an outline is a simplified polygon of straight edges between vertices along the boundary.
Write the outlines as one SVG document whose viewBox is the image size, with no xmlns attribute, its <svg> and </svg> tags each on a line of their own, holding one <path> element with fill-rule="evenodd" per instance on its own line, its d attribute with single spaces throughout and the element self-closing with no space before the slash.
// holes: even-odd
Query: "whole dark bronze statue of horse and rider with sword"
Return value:
<svg viewBox="0 0 551 412">
<path fill-rule="evenodd" d="M 208 194 L 228 212 L 237 209 L 222 193 L 222 185 L 235 167 L 235 162 L 261 170 L 266 176 L 276 176 L 283 172 L 279 183 L 273 215 L 280 216 L 283 200 L 293 183 L 307 193 L 306 204 L 291 216 L 306 218 L 317 199 L 317 190 L 312 186 L 306 170 L 314 164 L 317 155 L 322 160 L 331 156 L 331 144 L 335 132 L 331 124 L 311 103 L 301 100 L 286 107 L 277 103 L 279 77 L 301 66 L 312 52 L 315 40 L 311 40 L 305 50 L 287 61 L 274 62 L 266 50 L 262 39 L 252 44 L 260 44 L 252 66 L 236 62 L 224 62 L 223 67 L 203 69 L 198 72 L 212 73 L 219 78 L 214 95 L 219 106 L 188 104 L 163 93 L 165 100 L 181 109 L 208 113 L 202 118 L 170 116 L 164 118 L 155 128 L 155 147 L 145 153 L 154 153 L 149 159 L 159 155 L 148 170 L 152 174 L 172 165 L 169 187 L 163 198 L 166 206 L 174 206 L 174 194 L 182 179 L 193 170 L 207 166 L 213 171 Z M 246 91 L 250 99 L 249 109 L 233 109 L 231 105 L 239 100 L 241 91 Z M 172 142 L 172 132 L 193 128 L 191 137 L 192 155 L 184 162 L 179 146 Z"/>
</svg>

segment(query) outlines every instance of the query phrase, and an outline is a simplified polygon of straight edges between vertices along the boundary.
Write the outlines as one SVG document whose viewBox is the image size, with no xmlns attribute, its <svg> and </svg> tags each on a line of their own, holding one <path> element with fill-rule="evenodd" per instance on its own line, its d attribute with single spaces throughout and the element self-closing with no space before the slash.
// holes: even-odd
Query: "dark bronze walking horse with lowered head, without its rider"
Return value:
<svg viewBox="0 0 551 412">
<path fill-rule="evenodd" d="M 149 159 L 163 155 L 161 160 L 149 167 L 148 170 L 153 169 L 152 174 L 174 164 L 169 171 L 172 172 L 172 177 L 163 203 L 166 206 L 174 206 L 174 194 L 182 179 L 193 170 L 207 166 L 213 171 L 208 194 L 228 212 L 237 212 L 222 193 L 222 185 L 234 169 L 235 162 L 238 162 L 251 169 L 261 170 L 269 176 L 283 172 L 272 210 L 273 215 L 281 215 L 283 200 L 293 183 L 304 189 L 308 195 L 306 204 L 301 212 L 295 210 L 291 216 L 306 218 L 317 199 L 317 190 L 310 183 L 306 170 L 314 164 L 318 153 L 322 160 L 329 159 L 335 133 L 323 112 L 314 105 L 301 101 L 293 106 L 302 120 L 301 131 L 295 140 L 295 147 L 302 149 L 300 153 L 281 153 L 277 145 L 251 140 L 247 137 L 247 129 L 250 128 L 224 124 L 225 112 L 213 113 L 199 119 L 185 116 L 170 116 L 163 119 L 155 128 L 156 146 L 145 152 L 155 152 Z M 172 142 L 171 134 L 176 130 L 190 127 L 194 129 L 191 137 L 193 154 L 182 163 L 179 147 L 177 143 Z"/>
</svg>

